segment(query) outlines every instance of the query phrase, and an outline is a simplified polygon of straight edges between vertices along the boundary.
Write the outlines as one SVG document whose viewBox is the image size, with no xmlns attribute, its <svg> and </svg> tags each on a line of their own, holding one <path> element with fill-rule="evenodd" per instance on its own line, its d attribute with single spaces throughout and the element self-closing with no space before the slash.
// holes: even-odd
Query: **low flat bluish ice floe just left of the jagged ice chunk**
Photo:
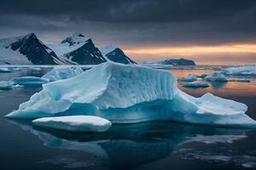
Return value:
<svg viewBox="0 0 256 170">
<path fill-rule="evenodd" d="M 48 79 L 42 77 L 15 77 L 13 82 L 19 85 L 41 85 L 49 82 Z"/>
</svg>

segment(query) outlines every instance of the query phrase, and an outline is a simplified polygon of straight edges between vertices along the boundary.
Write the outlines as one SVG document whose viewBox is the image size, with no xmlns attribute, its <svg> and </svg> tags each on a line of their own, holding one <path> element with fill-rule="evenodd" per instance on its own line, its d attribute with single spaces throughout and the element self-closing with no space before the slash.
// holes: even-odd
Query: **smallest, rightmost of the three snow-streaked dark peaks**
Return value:
<svg viewBox="0 0 256 170">
<path fill-rule="evenodd" d="M 116 63 L 122 63 L 122 64 L 136 64 L 135 61 L 131 60 L 128 56 L 125 55 L 125 53 L 120 49 L 113 46 L 106 46 L 103 48 L 100 48 L 100 51 L 102 52 L 102 55 L 107 60 L 111 60 Z"/>
</svg>

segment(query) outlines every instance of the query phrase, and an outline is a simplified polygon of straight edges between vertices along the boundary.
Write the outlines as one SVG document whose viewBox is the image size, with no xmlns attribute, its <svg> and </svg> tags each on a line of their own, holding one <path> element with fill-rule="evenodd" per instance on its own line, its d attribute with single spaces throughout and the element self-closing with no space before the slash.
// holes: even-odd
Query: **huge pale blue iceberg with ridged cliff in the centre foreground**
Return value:
<svg viewBox="0 0 256 170">
<path fill-rule="evenodd" d="M 212 94 L 195 98 L 177 88 L 169 71 L 106 62 L 77 77 L 49 82 L 7 117 L 101 116 L 110 122 L 172 120 L 256 127 L 247 105 Z"/>
</svg>

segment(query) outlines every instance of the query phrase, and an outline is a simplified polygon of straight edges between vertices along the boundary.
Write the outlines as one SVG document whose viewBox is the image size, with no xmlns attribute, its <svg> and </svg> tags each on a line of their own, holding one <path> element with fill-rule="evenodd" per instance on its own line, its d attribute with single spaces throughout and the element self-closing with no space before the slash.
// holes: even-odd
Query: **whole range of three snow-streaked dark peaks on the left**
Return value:
<svg viewBox="0 0 256 170">
<path fill-rule="evenodd" d="M 80 33 L 50 46 L 34 33 L 0 39 L 0 65 L 97 65 L 108 60 L 136 64 L 120 48 L 96 48 L 90 38 Z"/>
</svg>

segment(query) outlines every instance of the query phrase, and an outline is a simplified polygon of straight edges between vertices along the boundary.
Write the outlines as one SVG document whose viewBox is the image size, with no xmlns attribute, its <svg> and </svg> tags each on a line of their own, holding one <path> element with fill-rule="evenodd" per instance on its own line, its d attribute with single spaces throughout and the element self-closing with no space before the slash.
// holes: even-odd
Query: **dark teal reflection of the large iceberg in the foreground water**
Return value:
<svg viewBox="0 0 256 170">
<path fill-rule="evenodd" d="M 106 133 L 68 133 L 33 127 L 25 120 L 19 124 L 49 148 L 79 150 L 101 159 L 111 169 L 131 169 L 170 156 L 181 144 L 203 142 L 227 143 L 245 139 L 246 129 L 190 126 L 174 122 L 114 124 Z"/>
</svg>

